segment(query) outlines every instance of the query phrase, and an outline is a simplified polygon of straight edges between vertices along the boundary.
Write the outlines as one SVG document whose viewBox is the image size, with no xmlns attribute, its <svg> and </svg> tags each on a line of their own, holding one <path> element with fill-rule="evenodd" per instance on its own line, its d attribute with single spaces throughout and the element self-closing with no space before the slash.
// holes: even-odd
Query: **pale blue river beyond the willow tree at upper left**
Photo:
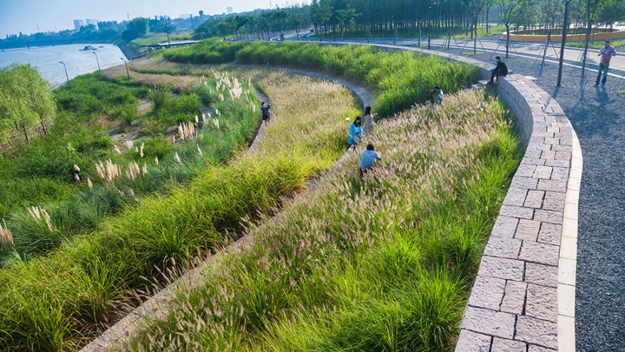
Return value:
<svg viewBox="0 0 625 352">
<path fill-rule="evenodd" d="M 87 45 L 97 50 L 80 50 Z M 56 86 L 67 80 L 63 65 L 59 61 L 67 65 L 67 75 L 71 80 L 77 75 L 97 71 L 98 61 L 100 68 L 104 70 L 104 68 L 124 63 L 121 58 L 126 60 L 124 53 L 110 43 L 19 48 L 0 51 L 0 68 L 11 63 L 30 63 L 39 70 L 45 80 Z"/>
</svg>

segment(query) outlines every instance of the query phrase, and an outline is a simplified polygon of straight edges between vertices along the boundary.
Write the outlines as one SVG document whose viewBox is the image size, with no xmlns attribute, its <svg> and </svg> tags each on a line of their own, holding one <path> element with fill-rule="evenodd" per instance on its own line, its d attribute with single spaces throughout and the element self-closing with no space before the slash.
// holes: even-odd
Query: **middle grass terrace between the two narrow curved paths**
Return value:
<svg viewBox="0 0 625 352">
<path fill-rule="evenodd" d="M 219 90 L 228 95 L 232 87 L 222 82 L 224 76 L 210 75 L 218 75 Z M 75 348 L 118 319 L 133 289 L 145 289 L 163 270 L 198 252 L 218 250 L 224 237 L 237 237 L 242 218 L 267 213 L 330 167 L 344 151 L 344 117 L 357 114 L 349 92 L 279 73 L 256 76 L 261 87 L 276 93 L 276 116 L 254 158 L 209 165 L 188 186 L 147 196 L 46 257 L 1 270 L 0 349 Z M 283 95 L 298 97 L 298 104 L 281 102 Z M 327 108 L 310 114 L 317 104 Z M 220 120 L 217 128 L 227 139 L 232 126 Z M 141 175 L 137 182 L 143 182 Z"/>
</svg>

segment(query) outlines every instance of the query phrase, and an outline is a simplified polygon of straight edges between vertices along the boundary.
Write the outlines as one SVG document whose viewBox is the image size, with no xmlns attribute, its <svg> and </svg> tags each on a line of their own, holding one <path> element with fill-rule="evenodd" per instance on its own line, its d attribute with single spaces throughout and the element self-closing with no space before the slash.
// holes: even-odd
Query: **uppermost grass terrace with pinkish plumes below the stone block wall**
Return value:
<svg viewBox="0 0 625 352">
<path fill-rule="evenodd" d="M 165 57 L 323 69 L 371 82 L 379 99 L 386 97 L 382 108 L 389 90 L 415 94 L 414 85 L 431 82 L 384 85 L 376 74 L 395 74 L 404 83 L 397 78 L 418 65 L 410 60 L 436 63 L 363 48 L 315 53 L 300 44 L 245 44 L 219 57 L 220 46 L 203 43 Z M 377 58 L 366 66 L 370 77 L 354 71 L 362 68 L 354 63 L 369 62 L 359 55 Z M 406 61 L 405 70 L 393 65 Z M 202 69 L 161 63 L 166 68 Z M 442 77 L 445 64 L 430 70 Z M 382 121 L 366 142 L 384 158 L 375 171 L 359 180 L 352 158 L 276 218 L 252 226 L 254 245 L 207 272 L 204 287 L 182 289 L 165 321 L 153 321 L 123 349 L 451 351 L 484 243 L 518 166 L 506 111 L 484 92 L 448 95 L 439 109 L 413 107 Z"/>
</svg>

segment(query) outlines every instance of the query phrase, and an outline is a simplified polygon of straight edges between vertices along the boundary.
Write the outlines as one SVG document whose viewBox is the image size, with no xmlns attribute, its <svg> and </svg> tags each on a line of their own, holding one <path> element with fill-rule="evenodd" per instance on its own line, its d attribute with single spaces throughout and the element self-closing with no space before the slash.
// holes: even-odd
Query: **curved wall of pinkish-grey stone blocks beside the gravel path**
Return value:
<svg viewBox="0 0 625 352">
<path fill-rule="evenodd" d="M 439 55 L 490 78 L 482 61 L 373 46 Z M 532 80 L 509 75 L 496 92 L 513 113 L 525 154 L 484 250 L 455 351 L 573 352 L 580 144 L 562 107 Z"/>
</svg>

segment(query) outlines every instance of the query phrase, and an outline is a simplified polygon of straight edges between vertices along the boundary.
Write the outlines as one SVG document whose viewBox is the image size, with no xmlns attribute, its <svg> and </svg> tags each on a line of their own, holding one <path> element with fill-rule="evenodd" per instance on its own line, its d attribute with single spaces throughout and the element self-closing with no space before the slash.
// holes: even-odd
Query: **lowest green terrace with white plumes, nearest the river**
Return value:
<svg viewBox="0 0 625 352">
<path fill-rule="evenodd" d="M 0 160 L 0 218 L 13 235 L 13 245 L 0 250 L 0 266 L 45 255 L 143 197 L 187 183 L 207 165 L 230 159 L 254 134 L 255 93 L 245 83 L 240 99 L 224 92 L 221 101 L 221 93 L 210 88 L 219 82 L 212 77 L 138 75 L 129 82 L 114 78 L 115 72 L 104 71 L 109 80 L 85 75 L 55 90 L 60 112 L 48 136 Z M 138 108 L 141 99 L 145 111 Z M 195 122 L 200 102 L 220 111 L 214 117 L 222 129 L 210 118 Z M 199 133 L 180 139 L 173 131 L 183 126 Z M 97 171 L 107 160 L 123 169 L 114 182 L 104 179 L 106 170 Z M 31 214 L 31 207 L 49 219 Z"/>
</svg>

